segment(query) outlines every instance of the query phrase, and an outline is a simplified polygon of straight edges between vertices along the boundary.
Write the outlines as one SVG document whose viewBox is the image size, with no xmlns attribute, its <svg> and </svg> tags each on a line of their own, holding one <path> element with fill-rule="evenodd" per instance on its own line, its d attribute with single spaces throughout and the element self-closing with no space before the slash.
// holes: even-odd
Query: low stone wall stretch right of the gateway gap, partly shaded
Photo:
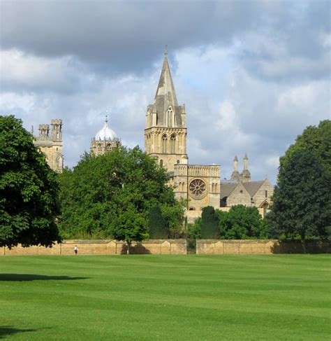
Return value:
<svg viewBox="0 0 331 341">
<path fill-rule="evenodd" d="M 331 253 L 331 241 L 307 241 L 307 253 Z M 266 240 L 223 240 L 199 239 L 196 241 L 197 254 L 272 254 L 304 253 L 300 241 L 281 242 Z"/>
</svg>

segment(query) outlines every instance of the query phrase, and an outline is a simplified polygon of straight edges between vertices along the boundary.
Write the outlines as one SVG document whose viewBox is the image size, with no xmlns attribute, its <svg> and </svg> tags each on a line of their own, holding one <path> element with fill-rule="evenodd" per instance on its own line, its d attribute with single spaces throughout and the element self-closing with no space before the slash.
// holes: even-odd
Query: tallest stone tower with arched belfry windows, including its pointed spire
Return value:
<svg viewBox="0 0 331 341">
<path fill-rule="evenodd" d="M 168 172 L 174 172 L 175 164 L 188 163 L 185 106 L 178 105 L 167 52 L 164 54 L 154 104 L 147 106 L 145 151 L 157 158 Z"/>
</svg>

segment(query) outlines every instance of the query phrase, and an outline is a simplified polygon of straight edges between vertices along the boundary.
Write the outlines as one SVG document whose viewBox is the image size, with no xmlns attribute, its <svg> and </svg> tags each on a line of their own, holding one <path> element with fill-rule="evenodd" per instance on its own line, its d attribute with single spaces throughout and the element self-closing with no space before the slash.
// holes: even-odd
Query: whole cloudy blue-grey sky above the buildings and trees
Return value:
<svg viewBox="0 0 331 341">
<path fill-rule="evenodd" d="M 191 164 L 249 156 L 275 184 L 279 157 L 331 118 L 330 1 L 1 1 L 1 115 L 64 122 L 73 167 L 110 126 L 144 148 L 164 46 L 186 105 Z"/>
</svg>

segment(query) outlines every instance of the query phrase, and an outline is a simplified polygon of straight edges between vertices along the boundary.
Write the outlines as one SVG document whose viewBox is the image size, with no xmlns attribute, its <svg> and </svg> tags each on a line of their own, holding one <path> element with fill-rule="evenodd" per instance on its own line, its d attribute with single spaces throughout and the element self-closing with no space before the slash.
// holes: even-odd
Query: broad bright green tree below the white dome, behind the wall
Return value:
<svg viewBox="0 0 331 341">
<path fill-rule="evenodd" d="M 167 186 L 165 170 L 138 147 L 115 148 L 100 156 L 85 154 L 60 179 L 60 226 L 66 238 L 115 237 L 130 245 L 148 237 L 152 207 L 171 211 L 180 205 Z"/>
</svg>

